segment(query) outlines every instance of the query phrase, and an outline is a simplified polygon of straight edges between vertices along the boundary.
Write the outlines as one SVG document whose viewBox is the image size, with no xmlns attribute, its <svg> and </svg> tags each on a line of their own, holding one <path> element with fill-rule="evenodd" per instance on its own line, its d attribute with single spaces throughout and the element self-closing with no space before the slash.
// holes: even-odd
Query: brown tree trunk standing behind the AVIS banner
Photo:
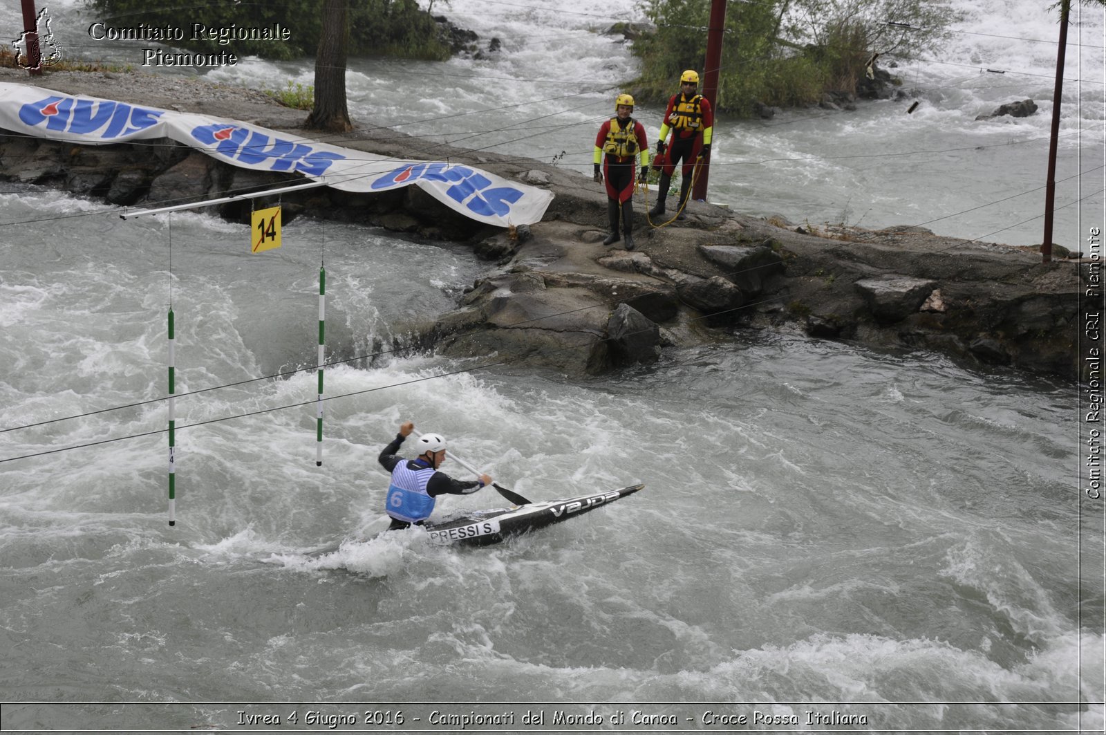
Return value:
<svg viewBox="0 0 1106 735">
<path fill-rule="evenodd" d="M 348 40 L 345 0 L 324 0 L 323 30 L 315 54 L 315 105 L 304 127 L 327 133 L 353 130 L 345 99 Z"/>
</svg>

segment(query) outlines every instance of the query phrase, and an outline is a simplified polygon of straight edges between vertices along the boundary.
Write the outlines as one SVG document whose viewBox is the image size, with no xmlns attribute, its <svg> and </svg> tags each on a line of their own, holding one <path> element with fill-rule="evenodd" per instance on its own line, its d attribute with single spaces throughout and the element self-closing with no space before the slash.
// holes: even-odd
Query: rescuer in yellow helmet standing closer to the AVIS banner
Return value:
<svg viewBox="0 0 1106 735">
<path fill-rule="evenodd" d="M 603 245 L 614 245 L 620 238 L 618 235 L 618 218 L 622 215 L 625 248 L 634 249 L 634 165 L 641 159 L 641 170 L 638 180 L 644 182 L 649 175 L 649 143 L 645 138 L 645 126 L 630 117 L 634 112 L 634 97 L 619 94 L 615 97 L 615 116 L 599 126 L 595 136 L 595 180 L 606 182 L 607 186 L 607 219 L 611 220 L 611 234 Z M 602 162 L 602 164 L 601 164 Z M 602 170 L 601 170 L 602 166 Z"/>
</svg>

